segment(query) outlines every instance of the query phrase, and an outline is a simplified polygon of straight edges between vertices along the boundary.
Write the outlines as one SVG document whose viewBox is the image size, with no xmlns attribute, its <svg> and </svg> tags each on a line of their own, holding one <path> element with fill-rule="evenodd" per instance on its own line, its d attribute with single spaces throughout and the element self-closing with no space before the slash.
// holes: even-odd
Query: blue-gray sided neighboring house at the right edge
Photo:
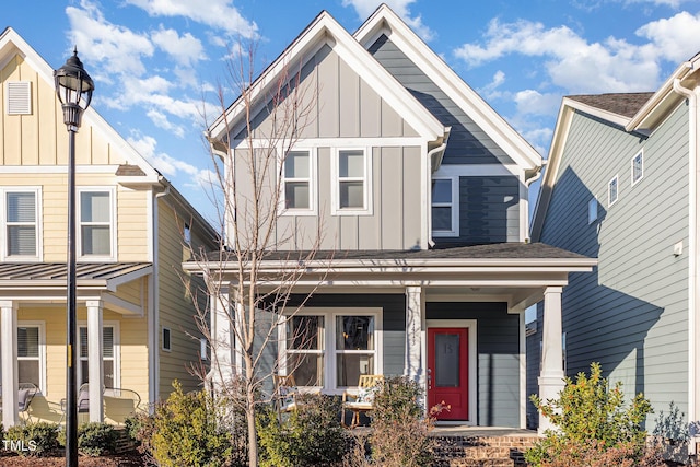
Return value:
<svg viewBox="0 0 700 467">
<path fill-rule="evenodd" d="M 673 401 L 686 421 L 700 420 L 698 67 L 700 56 L 655 93 L 565 97 L 532 230 L 598 258 L 562 294 L 567 373 L 600 362 L 626 392 L 656 412 Z"/>
</svg>

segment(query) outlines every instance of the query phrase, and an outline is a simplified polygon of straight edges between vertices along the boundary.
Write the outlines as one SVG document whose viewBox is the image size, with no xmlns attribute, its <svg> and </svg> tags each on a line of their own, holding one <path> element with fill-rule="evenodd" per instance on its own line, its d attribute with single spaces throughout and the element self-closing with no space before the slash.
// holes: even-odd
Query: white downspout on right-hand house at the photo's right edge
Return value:
<svg viewBox="0 0 700 467">
<path fill-rule="evenodd" d="M 692 65 L 688 63 L 692 69 Z M 688 294 L 688 413 L 691 422 L 700 419 L 698 410 L 698 376 L 696 371 L 698 345 L 696 342 L 696 327 L 698 326 L 697 310 L 698 306 L 698 95 L 692 89 L 685 87 L 680 84 L 680 79 L 674 80 L 674 91 L 688 100 L 688 191 L 689 191 L 689 231 L 688 231 L 688 268 L 689 268 L 689 294 Z M 698 433 L 691 433 L 691 442 L 689 444 L 690 454 L 695 454 L 696 443 L 700 441 Z"/>
</svg>

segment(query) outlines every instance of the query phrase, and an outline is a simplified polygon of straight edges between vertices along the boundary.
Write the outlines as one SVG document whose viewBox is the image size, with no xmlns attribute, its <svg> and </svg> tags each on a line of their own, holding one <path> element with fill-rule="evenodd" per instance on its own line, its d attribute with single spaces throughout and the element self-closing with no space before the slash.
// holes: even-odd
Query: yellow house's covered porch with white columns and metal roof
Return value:
<svg viewBox="0 0 700 467">
<path fill-rule="evenodd" d="M 86 384 L 82 411 L 90 421 L 105 420 L 109 397 L 105 388 L 120 388 L 126 381 L 121 336 L 141 328 L 147 337 L 152 269 L 149 262 L 78 265 L 79 342 L 77 349 L 67 349 L 66 265 L 0 265 L 0 384 L 5 429 L 27 418 L 61 421 L 68 351 L 75 352 L 79 382 Z M 147 358 L 144 354 L 140 367 L 148 369 Z M 24 394 L 20 385 L 24 383 L 38 392 L 21 416 Z M 140 399 L 141 394 L 148 395 L 148 383 L 131 389 Z"/>
</svg>

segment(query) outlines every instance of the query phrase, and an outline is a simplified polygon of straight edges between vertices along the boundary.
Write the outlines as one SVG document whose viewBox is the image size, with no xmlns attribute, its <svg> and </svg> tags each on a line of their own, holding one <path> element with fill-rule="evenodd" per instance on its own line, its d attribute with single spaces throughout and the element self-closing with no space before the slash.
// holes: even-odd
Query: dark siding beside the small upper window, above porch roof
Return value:
<svg viewBox="0 0 700 467">
<path fill-rule="evenodd" d="M 459 236 L 438 246 L 520 241 L 520 182 L 515 176 L 459 177 Z"/>
</svg>

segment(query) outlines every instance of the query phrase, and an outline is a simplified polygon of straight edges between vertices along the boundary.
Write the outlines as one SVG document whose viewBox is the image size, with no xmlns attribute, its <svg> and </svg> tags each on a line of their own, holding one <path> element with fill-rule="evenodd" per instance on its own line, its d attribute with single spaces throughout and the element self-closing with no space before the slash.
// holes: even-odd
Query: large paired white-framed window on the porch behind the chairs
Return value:
<svg viewBox="0 0 700 467">
<path fill-rule="evenodd" d="M 289 317 L 283 329 L 282 367 L 299 386 L 334 393 L 381 372 L 380 311 L 312 310 Z"/>
</svg>

